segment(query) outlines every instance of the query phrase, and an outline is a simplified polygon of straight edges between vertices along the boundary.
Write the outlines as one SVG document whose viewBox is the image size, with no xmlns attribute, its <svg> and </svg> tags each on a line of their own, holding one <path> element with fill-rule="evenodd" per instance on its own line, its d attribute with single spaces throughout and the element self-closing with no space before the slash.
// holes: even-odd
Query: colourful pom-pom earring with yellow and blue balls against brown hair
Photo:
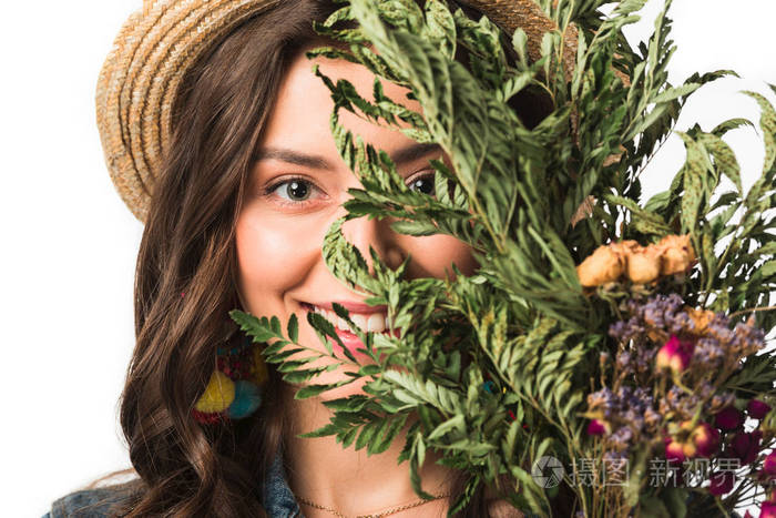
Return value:
<svg viewBox="0 0 776 518">
<path fill-rule="evenodd" d="M 192 416 L 200 424 L 243 419 L 262 405 L 262 387 L 268 378 L 267 364 L 259 344 L 254 344 L 239 331 L 236 335 L 236 344 L 227 342 L 217 348 L 216 369 L 192 409 Z"/>
</svg>

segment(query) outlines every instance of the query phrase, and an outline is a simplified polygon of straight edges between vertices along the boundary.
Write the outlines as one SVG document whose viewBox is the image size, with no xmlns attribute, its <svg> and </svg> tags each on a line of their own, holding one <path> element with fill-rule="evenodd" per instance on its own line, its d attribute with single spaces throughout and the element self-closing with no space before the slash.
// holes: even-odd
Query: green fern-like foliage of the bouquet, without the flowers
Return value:
<svg viewBox="0 0 776 518">
<path fill-rule="evenodd" d="M 537 2 L 558 30 L 544 37 L 534 63 L 522 30 L 502 34 L 488 19 L 470 20 L 441 0 L 350 0 L 316 26 L 349 50 L 327 47 L 309 57 L 360 63 L 408 89 L 408 99 L 421 108 L 412 111 L 388 98 L 377 79 L 369 100 L 347 81 L 335 83 L 315 70 L 335 102 L 331 131 L 340 155 L 364 186 L 349 191 L 348 213 L 329 228 L 324 258 L 370 304 L 388 306 L 399 336 L 358 329 L 335 307 L 372 360 L 359 366 L 347 349 L 345 357 L 334 353 L 329 339 L 339 338 L 320 315 L 308 314 L 307 322 L 325 353 L 298 343 L 296 317 L 285 338 L 276 317 L 232 313 L 255 342 L 268 344 L 264 355 L 284 379 L 303 384 L 298 398 L 364 382 L 363 394 L 327 400 L 330 423 L 308 436 L 331 435 L 369 455 L 404 437 L 399 460 L 409 463 L 419 495 L 426 495 L 418 469 L 428 451 L 467 470 L 471 479 L 451 511 L 487 484 L 514 506 L 547 516 L 550 495 L 531 477 L 534 460 L 552 455 L 568 465 L 590 454 L 581 413 L 586 394 L 604 377 L 601 353 L 612 352 L 606 331 L 617 313 L 582 288 L 575 266 L 600 244 L 647 244 L 688 233 L 700 264 L 680 281 L 683 295 L 734 319 L 768 305 L 776 288 L 775 223 L 768 212 L 776 201 L 776 112 L 768 101 L 747 93 L 762 110 L 766 145 L 763 175 L 748 192 L 723 139 L 751 123 L 733 119 L 711 132 L 696 126 L 678 133 L 686 163 L 668 190 L 643 202 L 639 177 L 687 98 L 733 72 L 668 84 L 666 65 L 675 50 L 666 16 L 671 1 L 653 37 L 637 49 L 622 29 L 639 19 L 645 0 L 621 1 L 609 17 L 600 12 L 609 3 L 602 0 Z M 348 20 L 356 27 L 341 28 Z M 572 37 L 573 70 L 561 58 Z M 464 59 L 455 59 L 460 55 Z M 551 105 L 534 128 L 512 105 L 525 95 Z M 341 110 L 438 144 L 452 166 L 431 162 L 436 195 L 408 189 L 387 153 L 339 124 Z M 596 200 L 592 215 L 572 225 L 590 196 Z M 341 233 L 345 221 L 365 216 L 394 217 L 392 228 L 408 235 L 455 236 L 472 247 L 480 268 L 473 276 L 456 268 L 455 281 L 406 278 L 411 257 L 391 270 L 369 248 L 369 270 Z M 762 328 L 774 328 L 774 312 L 754 314 Z M 314 383 L 340 367 L 348 367 L 348 379 Z M 775 367 L 769 357 L 751 357 L 728 384 L 773 394 Z M 625 499 L 641 505 L 641 516 L 649 515 L 646 508 L 654 516 L 686 512 L 684 492 L 640 496 L 636 478 Z M 590 507 L 590 488 L 575 490 L 586 514 L 601 512 Z"/>
</svg>

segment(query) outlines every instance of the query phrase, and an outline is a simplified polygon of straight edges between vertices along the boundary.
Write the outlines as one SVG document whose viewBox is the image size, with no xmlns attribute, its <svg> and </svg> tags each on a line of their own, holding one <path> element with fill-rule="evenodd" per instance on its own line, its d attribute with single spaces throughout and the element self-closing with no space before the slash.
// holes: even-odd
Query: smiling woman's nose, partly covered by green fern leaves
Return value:
<svg viewBox="0 0 776 518">
<path fill-rule="evenodd" d="M 374 275 L 375 266 L 369 254 L 369 246 L 377 253 L 380 261 L 391 270 L 397 268 L 407 257 L 407 251 L 401 244 L 401 234 L 394 232 L 390 224 L 396 221 L 392 217 L 369 219 L 360 216 L 343 223 L 343 235 L 364 256 Z"/>
</svg>

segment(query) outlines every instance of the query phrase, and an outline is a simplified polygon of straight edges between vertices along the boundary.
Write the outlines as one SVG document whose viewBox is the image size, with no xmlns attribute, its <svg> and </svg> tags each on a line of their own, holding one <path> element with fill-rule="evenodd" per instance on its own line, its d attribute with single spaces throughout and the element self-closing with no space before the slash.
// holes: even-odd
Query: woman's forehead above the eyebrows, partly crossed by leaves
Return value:
<svg viewBox="0 0 776 518">
<path fill-rule="evenodd" d="M 372 100 L 375 75 L 365 67 L 345 60 L 309 60 L 300 53 L 293 60 L 280 83 L 275 106 L 264 130 L 263 146 L 315 149 L 318 152 L 337 154 L 329 126 L 334 101 L 320 78 L 313 73 L 314 64 L 317 64 L 320 72 L 331 81 L 347 80 L 363 98 L 367 101 Z M 388 98 L 420 112 L 420 104 L 406 98 L 407 89 L 387 81 L 380 82 Z M 339 111 L 339 121 L 354 135 L 360 135 L 366 142 L 388 152 L 412 143 L 395 128 L 380 128 L 347 110 Z"/>
</svg>

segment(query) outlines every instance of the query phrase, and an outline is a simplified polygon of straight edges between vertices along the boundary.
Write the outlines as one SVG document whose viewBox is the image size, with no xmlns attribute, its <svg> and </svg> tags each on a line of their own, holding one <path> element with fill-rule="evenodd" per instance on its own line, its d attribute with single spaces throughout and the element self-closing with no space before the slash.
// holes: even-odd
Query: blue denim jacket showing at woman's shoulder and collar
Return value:
<svg viewBox="0 0 776 518">
<path fill-rule="evenodd" d="M 72 492 L 54 501 L 43 518 L 102 518 L 109 517 L 110 507 L 121 501 L 122 494 L 110 487 Z M 304 516 L 286 483 L 280 456 L 269 467 L 264 485 L 264 508 L 273 518 Z"/>
</svg>

